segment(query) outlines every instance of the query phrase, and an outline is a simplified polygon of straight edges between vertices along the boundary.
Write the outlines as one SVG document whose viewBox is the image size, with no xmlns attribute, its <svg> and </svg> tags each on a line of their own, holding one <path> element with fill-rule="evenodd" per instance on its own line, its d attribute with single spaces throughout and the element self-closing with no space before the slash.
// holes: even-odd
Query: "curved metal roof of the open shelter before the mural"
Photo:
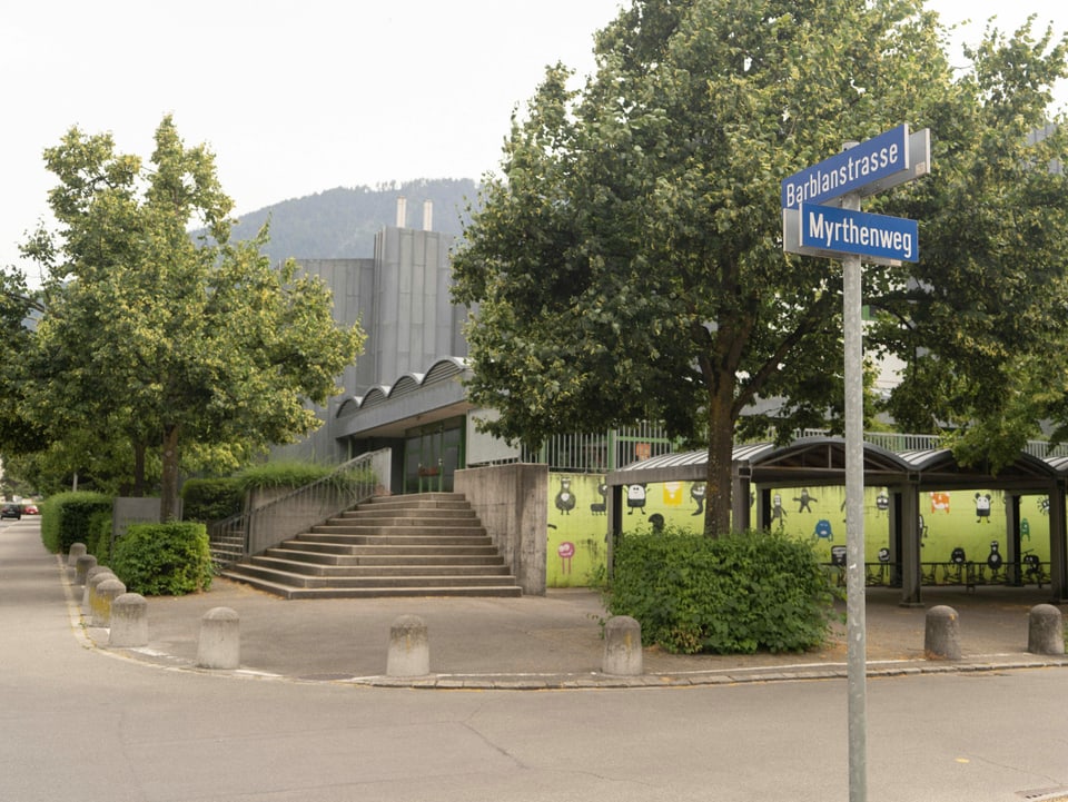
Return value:
<svg viewBox="0 0 1068 802">
<path fill-rule="evenodd" d="M 758 484 L 840 485 L 846 479 L 842 437 L 803 437 L 785 446 L 770 443 L 735 446 L 733 469 Z M 1058 464 L 1052 464 L 1057 462 Z M 654 482 L 702 482 L 708 452 L 665 454 L 631 463 L 609 474 L 609 485 Z M 948 448 L 892 452 L 864 443 L 864 483 L 914 484 L 918 488 L 991 487 L 1047 492 L 1058 475 L 1068 473 L 1068 458 L 1042 461 L 1021 452 L 997 474 L 960 466 Z"/>
</svg>

